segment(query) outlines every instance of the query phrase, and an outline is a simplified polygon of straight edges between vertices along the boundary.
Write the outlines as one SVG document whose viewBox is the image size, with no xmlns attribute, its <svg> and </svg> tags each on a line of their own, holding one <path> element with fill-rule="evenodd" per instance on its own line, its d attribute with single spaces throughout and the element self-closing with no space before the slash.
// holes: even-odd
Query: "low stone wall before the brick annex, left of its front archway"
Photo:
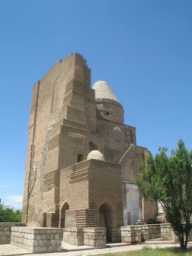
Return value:
<svg viewBox="0 0 192 256">
<path fill-rule="evenodd" d="M 63 241 L 69 244 L 105 248 L 106 228 L 63 228 Z"/>
</svg>

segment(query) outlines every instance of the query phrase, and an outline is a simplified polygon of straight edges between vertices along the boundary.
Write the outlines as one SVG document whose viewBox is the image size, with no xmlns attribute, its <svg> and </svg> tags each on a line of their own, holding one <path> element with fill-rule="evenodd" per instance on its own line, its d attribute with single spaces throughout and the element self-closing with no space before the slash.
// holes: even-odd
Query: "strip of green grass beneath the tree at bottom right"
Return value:
<svg viewBox="0 0 192 256">
<path fill-rule="evenodd" d="M 106 256 L 110 256 L 108 254 Z M 116 256 L 192 256 L 192 248 L 187 248 L 185 251 L 181 251 L 180 248 L 156 248 L 151 249 L 148 246 L 143 246 L 143 250 L 135 252 L 125 252 L 116 254 Z"/>
</svg>

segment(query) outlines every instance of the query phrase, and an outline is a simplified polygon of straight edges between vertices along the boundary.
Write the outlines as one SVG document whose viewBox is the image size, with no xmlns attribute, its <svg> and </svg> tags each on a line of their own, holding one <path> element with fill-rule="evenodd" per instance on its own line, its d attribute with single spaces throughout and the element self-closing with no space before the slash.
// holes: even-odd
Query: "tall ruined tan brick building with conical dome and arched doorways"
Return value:
<svg viewBox="0 0 192 256">
<path fill-rule="evenodd" d="M 117 241 L 118 226 L 156 216 L 135 185 L 147 154 L 108 84 L 91 88 L 86 60 L 70 54 L 33 87 L 22 221 L 106 227 Z"/>
</svg>

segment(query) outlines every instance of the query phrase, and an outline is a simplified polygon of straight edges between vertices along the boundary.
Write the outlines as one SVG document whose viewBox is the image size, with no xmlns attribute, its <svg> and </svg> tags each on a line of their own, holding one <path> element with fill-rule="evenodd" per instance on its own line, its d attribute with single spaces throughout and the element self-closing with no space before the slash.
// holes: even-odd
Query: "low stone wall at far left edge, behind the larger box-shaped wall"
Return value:
<svg viewBox="0 0 192 256">
<path fill-rule="evenodd" d="M 11 227 L 25 227 L 25 223 L 0 222 L 0 244 L 10 244 Z"/>
</svg>

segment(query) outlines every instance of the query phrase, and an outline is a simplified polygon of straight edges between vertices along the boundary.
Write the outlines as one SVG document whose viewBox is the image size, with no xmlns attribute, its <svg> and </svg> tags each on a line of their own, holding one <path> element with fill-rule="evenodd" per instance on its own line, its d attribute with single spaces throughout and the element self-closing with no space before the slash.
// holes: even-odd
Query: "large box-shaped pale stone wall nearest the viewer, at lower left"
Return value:
<svg viewBox="0 0 192 256">
<path fill-rule="evenodd" d="M 11 244 L 30 252 L 59 252 L 61 234 L 61 228 L 12 227 Z"/>
</svg>

